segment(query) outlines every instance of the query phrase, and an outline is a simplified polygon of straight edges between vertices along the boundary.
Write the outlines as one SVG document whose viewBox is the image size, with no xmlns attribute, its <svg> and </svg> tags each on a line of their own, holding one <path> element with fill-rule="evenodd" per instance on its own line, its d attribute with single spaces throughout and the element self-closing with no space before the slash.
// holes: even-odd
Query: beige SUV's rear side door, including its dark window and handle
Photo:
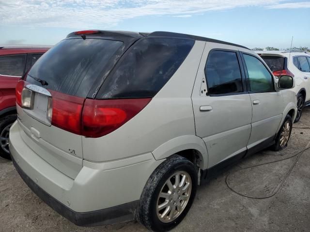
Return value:
<svg viewBox="0 0 310 232">
<path fill-rule="evenodd" d="M 236 47 L 206 44 L 192 102 L 196 134 L 208 150 L 208 167 L 244 155 L 252 108 Z"/>
</svg>

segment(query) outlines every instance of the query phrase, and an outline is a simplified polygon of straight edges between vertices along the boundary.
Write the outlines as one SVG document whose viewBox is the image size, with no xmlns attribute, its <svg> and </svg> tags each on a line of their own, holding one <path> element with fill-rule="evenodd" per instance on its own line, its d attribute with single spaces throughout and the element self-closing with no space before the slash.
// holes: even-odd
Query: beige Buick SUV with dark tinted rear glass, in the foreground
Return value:
<svg viewBox="0 0 310 232">
<path fill-rule="evenodd" d="M 218 169 L 287 145 L 294 79 L 248 48 L 171 32 L 73 32 L 16 87 L 17 171 L 80 226 L 167 231 Z"/>
</svg>

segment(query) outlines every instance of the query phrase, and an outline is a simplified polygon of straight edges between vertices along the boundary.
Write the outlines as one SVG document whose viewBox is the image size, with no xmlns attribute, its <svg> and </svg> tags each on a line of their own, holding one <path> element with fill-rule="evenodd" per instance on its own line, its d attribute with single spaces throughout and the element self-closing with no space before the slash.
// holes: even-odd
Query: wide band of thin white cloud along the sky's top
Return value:
<svg viewBox="0 0 310 232">
<path fill-rule="evenodd" d="M 236 7 L 304 8 L 287 0 L 0 0 L 0 25 L 62 28 L 111 28 L 137 17 L 189 17 Z"/>
</svg>

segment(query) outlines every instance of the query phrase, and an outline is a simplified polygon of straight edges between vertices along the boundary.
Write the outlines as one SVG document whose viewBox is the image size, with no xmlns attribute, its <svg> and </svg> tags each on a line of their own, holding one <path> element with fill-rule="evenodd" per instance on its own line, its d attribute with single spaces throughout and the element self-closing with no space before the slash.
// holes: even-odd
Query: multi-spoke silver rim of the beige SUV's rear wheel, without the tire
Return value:
<svg viewBox="0 0 310 232">
<path fill-rule="evenodd" d="M 189 201 L 192 180 L 185 171 L 177 172 L 166 181 L 157 198 L 156 212 L 161 222 L 168 223 L 179 217 Z"/>
</svg>

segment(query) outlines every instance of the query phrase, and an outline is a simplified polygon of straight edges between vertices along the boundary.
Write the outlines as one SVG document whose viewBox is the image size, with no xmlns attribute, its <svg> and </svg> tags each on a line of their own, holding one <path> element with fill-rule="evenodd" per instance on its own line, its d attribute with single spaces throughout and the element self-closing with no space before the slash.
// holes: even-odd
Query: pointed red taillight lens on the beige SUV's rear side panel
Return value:
<svg viewBox="0 0 310 232">
<path fill-rule="evenodd" d="M 82 114 L 82 135 L 98 138 L 109 134 L 137 115 L 150 101 L 151 98 L 86 99 Z"/>
</svg>

